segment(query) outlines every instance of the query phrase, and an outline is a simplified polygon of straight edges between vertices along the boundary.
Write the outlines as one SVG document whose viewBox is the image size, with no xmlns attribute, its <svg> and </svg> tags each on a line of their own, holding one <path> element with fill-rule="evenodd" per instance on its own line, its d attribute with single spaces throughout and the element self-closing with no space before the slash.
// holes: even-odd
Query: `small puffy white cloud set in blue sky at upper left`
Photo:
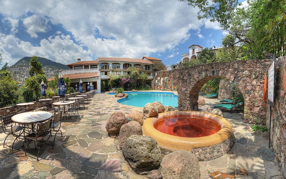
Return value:
<svg viewBox="0 0 286 179">
<path fill-rule="evenodd" d="M 38 37 L 37 32 L 47 32 L 49 30 L 48 22 L 49 20 L 46 17 L 42 17 L 38 14 L 23 19 L 23 24 L 27 32 L 33 38 Z"/>
</svg>

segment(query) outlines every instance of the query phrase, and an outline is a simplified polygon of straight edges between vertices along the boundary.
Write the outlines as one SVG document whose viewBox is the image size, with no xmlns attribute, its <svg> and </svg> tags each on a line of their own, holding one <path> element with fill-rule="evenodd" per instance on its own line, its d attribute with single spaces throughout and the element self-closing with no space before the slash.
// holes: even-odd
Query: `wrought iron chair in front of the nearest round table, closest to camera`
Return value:
<svg viewBox="0 0 286 179">
<path fill-rule="evenodd" d="M 36 143 L 41 145 L 37 153 L 37 161 L 39 161 L 39 153 L 44 144 L 51 145 L 53 148 L 53 143 L 49 141 L 49 138 L 51 137 L 51 119 L 43 123 L 38 122 L 36 132 L 29 131 L 29 130 L 26 131 L 25 128 L 24 128 L 24 131 L 29 133 L 28 135 L 25 136 L 25 140 L 26 141 L 29 140 L 29 143 L 27 144 L 26 149 L 25 149 L 25 156 L 27 156 L 27 148 L 29 144 L 31 143 L 31 141 L 34 141 L 35 149 L 37 149 Z M 48 138 L 47 140 L 44 140 L 46 136 L 48 136 Z M 47 142 L 49 142 L 50 144 L 48 144 Z"/>
</svg>

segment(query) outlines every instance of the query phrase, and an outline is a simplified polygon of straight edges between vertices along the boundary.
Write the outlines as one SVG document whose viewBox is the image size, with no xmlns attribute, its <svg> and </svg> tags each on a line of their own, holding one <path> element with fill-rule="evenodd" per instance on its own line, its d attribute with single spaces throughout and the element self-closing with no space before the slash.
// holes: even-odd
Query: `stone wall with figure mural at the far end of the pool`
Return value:
<svg viewBox="0 0 286 179">
<path fill-rule="evenodd" d="M 168 79 L 170 71 L 157 71 L 152 81 L 152 89 L 162 91 L 176 91 L 176 86 Z"/>
</svg>

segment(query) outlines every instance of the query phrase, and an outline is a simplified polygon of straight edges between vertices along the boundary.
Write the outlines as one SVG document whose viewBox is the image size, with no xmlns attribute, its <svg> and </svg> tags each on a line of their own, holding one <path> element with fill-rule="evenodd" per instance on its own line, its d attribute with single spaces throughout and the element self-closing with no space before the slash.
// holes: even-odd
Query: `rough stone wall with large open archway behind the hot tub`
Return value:
<svg viewBox="0 0 286 179">
<path fill-rule="evenodd" d="M 193 110 L 199 90 L 210 79 L 229 79 L 243 94 L 244 122 L 256 123 L 265 120 L 262 94 L 269 63 L 268 59 L 210 63 L 172 70 L 168 78 L 176 85 L 179 110 Z"/>
</svg>

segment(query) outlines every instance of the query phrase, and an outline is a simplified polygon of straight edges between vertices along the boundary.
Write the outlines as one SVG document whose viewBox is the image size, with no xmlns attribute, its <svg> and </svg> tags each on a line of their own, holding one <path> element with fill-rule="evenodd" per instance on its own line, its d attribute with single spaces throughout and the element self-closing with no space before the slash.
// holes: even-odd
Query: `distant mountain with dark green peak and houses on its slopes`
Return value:
<svg viewBox="0 0 286 179">
<path fill-rule="evenodd" d="M 16 81 L 23 81 L 29 77 L 28 69 L 31 66 L 29 64 L 30 59 L 31 57 L 24 57 L 9 67 L 9 71 L 11 71 L 12 76 Z M 66 65 L 42 57 L 39 57 L 38 60 L 43 65 L 43 70 L 48 78 L 53 77 L 53 75 L 59 73 L 60 70 L 70 69 Z"/>
</svg>

